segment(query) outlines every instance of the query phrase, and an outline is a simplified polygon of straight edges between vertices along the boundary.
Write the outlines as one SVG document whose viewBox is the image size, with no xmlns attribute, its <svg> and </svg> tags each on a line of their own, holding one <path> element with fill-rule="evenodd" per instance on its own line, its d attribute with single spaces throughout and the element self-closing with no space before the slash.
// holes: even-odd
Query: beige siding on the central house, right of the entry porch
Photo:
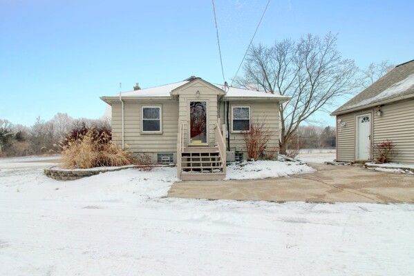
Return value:
<svg viewBox="0 0 414 276">
<path fill-rule="evenodd" d="M 230 130 L 230 149 L 245 150 L 243 134 L 232 132 L 232 106 L 250 106 L 252 121 L 265 121 L 265 126 L 272 131 L 272 139 L 267 144 L 267 148 L 279 150 L 279 109 L 278 102 L 274 101 L 230 101 L 229 102 L 229 130 Z M 220 119 L 222 124 L 227 125 L 225 117 L 225 105 L 220 103 Z M 227 128 L 227 127 L 226 127 Z M 226 141 L 227 146 L 227 141 Z"/>
</svg>

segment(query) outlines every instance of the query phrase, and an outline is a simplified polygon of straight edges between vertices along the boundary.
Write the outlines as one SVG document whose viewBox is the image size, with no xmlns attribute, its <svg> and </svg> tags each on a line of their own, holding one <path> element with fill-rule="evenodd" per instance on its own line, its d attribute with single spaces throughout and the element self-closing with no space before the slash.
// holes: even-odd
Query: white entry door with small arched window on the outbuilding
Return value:
<svg viewBox="0 0 414 276">
<path fill-rule="evenodd" d="M 357 160 L 370 159 L 371 115 L 357 116 Z"/>
</svg>

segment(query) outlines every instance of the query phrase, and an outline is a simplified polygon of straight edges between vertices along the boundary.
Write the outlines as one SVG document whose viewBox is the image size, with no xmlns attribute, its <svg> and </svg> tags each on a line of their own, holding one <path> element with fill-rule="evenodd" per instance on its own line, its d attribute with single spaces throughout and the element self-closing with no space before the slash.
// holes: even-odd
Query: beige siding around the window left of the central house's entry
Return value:
<svg viewBox="0 0 414 276">
<path fill-rule="evenodd" d="M 162 133 L 141 132 L 141 106 L 162 107 Z M 176 152 L 178 132 L 178 101 L 125 101 L 124 143 L 133 152 Z M 113 139 L 122 144 L 121 103 L 112 104 Z"/>
</svg>

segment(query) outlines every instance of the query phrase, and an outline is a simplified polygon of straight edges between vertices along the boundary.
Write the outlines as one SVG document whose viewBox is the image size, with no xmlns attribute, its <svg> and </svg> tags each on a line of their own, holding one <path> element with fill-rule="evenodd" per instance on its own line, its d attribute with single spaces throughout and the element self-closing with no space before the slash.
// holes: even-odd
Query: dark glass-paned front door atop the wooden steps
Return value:
<svg viewBox="0 0 414 276">
<path fill-rule="evenodd" d="M 190 145 L 207 145 L 207 101 L 190 101 Z"/>
</svg>

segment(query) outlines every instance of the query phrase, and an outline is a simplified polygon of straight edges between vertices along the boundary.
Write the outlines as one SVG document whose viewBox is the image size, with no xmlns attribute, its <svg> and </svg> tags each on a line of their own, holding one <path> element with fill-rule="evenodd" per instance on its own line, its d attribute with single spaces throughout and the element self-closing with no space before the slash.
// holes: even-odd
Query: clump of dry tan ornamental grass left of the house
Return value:
<svg viewBox="0 0 414 276">
<path fill-rule="evenodd" d="M 106 131 L 96 128 L 89 128 L 86 132 L 75 129 L 62 144 L 64 168 L 124 166 L 132 164 L 132 161 L 130 152 L 113 144 Z"/>
</svg>

